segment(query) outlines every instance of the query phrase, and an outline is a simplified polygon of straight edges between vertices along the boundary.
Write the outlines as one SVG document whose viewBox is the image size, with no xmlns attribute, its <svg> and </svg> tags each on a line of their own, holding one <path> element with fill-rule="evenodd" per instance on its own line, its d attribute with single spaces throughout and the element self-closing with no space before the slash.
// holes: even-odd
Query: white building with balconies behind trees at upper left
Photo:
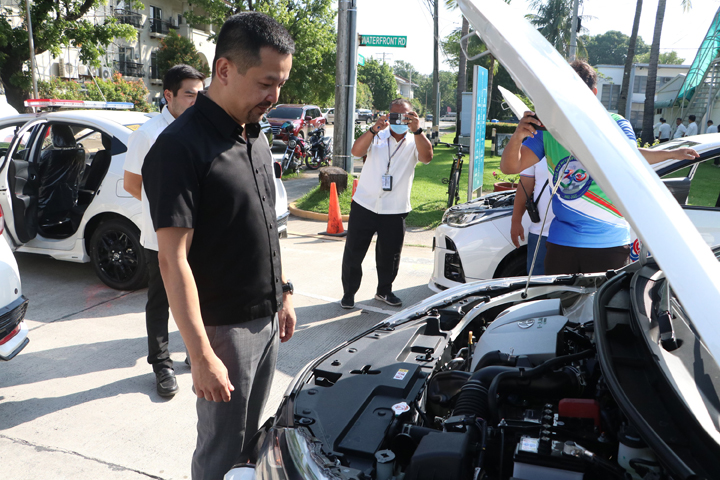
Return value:
<svg viewBox="0 0 720 480">
<path fill-rule="evenodd" d="M 0 7 L 10 8 L 14 23 L 22 23 L 24 6 L 19 5 L 17 0 L 0 0 Z M 170 29 L 192 40 L 206 64 L 210 65 L 215 56 L 215 44 L 208 40 L 213 33 L 212 27 L 190 26 L 183 14 L 191 9 L 189 2 L 177 0 L 151 0 L 145 4 L 144 10 L 133 9 L 131 2 L 108 0 L 106 5 L 90 10 L 85 20 L 102 24 L 107 17 L 115 17 L 119 23 L 135 27 L 136 39 L 129 42 L 114 39 L 106 48 L 106 55 L 100 59 L 102 66 L 99 69 L 84 65 L 77 48 L 64 47 L 59 57 L 45 52 L 36 57 L 37 78 L 61 77 L 86 82 L 92 81 L 93 76 L 107 79 L 119 72 L 127 80 L 143 81 L 150 90 L 149 100 L 157 103 L 162 98 L 162 79 L 157 69 L 156 54 L 160 41 Z"/>
</svg>

